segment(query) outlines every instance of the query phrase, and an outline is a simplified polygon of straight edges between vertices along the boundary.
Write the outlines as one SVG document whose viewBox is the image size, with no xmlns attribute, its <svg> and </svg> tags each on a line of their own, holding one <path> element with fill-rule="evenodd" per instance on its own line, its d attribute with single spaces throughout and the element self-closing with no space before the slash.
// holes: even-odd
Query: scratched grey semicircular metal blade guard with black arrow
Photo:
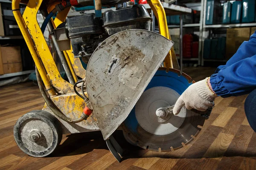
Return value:
<svg viewBox="0 0 256 170">
<path fill-rule="evenodd" d="M 155 32 L 133 29 L 96 48 L 86 88 L 104 140 L 127 118 L 173 44 Z"/>
</svg>

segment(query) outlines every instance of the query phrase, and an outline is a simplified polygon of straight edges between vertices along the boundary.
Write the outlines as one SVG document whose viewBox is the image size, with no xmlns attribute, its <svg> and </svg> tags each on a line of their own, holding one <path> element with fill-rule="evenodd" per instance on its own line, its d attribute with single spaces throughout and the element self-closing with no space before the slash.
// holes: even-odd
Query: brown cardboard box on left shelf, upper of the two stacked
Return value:
<svg viewBox="0 0 256 170">
<path fill-rule="evenodd" d="M 21 62 L 20 47 L 2 47 L 0 48 L 3 64 Z"/>
</svg>

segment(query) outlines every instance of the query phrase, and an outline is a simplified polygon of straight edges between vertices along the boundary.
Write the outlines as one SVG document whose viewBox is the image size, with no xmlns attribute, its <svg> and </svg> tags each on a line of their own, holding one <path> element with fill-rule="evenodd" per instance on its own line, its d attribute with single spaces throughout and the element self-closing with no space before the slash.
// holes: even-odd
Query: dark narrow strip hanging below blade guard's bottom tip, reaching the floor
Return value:
<svg viewBox="0 0 256 170">
<path fill-rule="evenodd" d="M 106 140 L 108 149 L 111 151 L 113 156 L 117 161 L 121 162 L 121 156 L 123 156 L 122 147 L 116 142 L 116 139 L 111 135 L 109 139 Z"/>
</svg>

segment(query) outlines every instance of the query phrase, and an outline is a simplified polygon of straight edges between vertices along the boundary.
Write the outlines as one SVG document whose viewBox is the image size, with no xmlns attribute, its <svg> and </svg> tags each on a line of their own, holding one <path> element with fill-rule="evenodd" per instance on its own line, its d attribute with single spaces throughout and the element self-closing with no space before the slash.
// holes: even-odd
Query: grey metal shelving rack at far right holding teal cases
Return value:
<svg viewBox="0 0 256 170">
<path fill-rule="evenodd" d="M 256 26 L 256 23 L 238 23 L 238 24 L 216 24 L 216 25 L 205 25 L 206 18 L 206 7 L 207 0 L 204 1 L 204 17 L 203 17 L 203 30 L 202 30 L 202 56 L 201 56 L 201 65 L 204 66 L 205 61 L 209 62 L 227 62 L 227 59 L 204 59 L 204 40 L 207 39 L 207 30 L 211 28 L 232 28 L 232 27 L 248 27 L 248 26 Z"/>
</svg>

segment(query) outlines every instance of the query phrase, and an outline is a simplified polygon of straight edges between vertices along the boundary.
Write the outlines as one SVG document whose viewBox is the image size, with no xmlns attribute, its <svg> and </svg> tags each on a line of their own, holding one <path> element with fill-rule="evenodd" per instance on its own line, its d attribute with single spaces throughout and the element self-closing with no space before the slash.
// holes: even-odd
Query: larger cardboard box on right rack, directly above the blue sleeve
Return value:
<svg viewBox="0 0 256 170">
<path fill-rule="evenodd" d="M 226 40 L 226 59 L 230 59 L 244 41 L 250 38 L 251 28 L 228 28 Z"/>
</svg>

